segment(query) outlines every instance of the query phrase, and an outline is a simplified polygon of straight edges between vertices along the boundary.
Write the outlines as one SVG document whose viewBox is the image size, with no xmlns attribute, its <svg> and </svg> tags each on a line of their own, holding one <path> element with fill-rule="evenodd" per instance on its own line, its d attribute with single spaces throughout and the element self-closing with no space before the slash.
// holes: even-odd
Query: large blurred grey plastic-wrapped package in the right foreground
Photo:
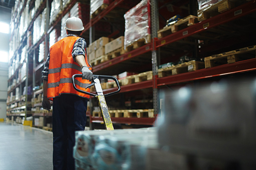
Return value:
<svg viewBox="0 0 256 170">
<path fill-rule="evenodd" d="M 256 79 L 162 91 L 160 147 L 256 166 Z M 250 169 L 250 168 L 249 168 Z"/>
</svg>

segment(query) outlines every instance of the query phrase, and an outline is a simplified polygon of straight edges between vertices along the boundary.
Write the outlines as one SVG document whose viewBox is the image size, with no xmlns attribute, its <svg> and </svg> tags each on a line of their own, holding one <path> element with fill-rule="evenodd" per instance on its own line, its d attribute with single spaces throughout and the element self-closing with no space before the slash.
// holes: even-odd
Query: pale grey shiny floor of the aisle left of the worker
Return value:
<svg viewBox="0 0 256 170">
<path fill-rule="evenodd" d="M 0 170 L 52 170 L 52 133 L 0 122 Z"/>
</svg>

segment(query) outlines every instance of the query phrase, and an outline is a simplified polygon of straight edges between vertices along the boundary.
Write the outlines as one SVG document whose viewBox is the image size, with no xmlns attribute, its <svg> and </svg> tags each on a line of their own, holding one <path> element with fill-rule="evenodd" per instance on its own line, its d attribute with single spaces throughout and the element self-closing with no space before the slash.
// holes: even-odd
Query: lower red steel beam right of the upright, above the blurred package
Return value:
<svg viewBox="0 0 256 170">
<path fill-rule="evenodd" d="M 256 58 L 157 79 L 157 86 L 256 70 Z"/>
</svg>

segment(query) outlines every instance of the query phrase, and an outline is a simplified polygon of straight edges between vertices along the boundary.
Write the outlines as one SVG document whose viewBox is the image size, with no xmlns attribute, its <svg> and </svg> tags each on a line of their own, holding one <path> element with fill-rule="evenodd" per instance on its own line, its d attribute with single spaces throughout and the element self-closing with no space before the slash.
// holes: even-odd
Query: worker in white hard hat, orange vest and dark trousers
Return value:
<svg viewBox="0 0 256 170">
<path fill-rule="evenodd" d="M 67 37 L 59 40 L 49 50 L 42 78 L 44 80 L 44 97 L 42 107 L 50 110 L 52 100 L 52 133 L 53 133 L 53 169 L 74 170 L 73 147 L 75 131 L 84 130 L 89 96 L 73 88 L 71 77 L 76 78 L 76 87 L 90 92 L 85 87 L 93 77 L 87 59 L 86 42 L 80 38 L 84 29 L 77 17 L 66 21 Z"/>
</svg>

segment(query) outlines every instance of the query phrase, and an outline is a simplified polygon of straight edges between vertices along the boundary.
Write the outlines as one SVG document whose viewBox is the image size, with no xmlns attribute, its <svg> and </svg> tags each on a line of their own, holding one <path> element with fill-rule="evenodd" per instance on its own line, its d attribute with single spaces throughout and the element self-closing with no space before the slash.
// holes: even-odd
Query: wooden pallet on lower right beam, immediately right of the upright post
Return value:
<svg viewBox="0 0 256 170">
<path fill-rule="evenodd" d="M 204 62 L 189 61 L 177 64 L 175 66 L 158 69 L 158 77 L 167 77 L 175 74 L 186 73 L 204 68 Z"/>
</svg>

